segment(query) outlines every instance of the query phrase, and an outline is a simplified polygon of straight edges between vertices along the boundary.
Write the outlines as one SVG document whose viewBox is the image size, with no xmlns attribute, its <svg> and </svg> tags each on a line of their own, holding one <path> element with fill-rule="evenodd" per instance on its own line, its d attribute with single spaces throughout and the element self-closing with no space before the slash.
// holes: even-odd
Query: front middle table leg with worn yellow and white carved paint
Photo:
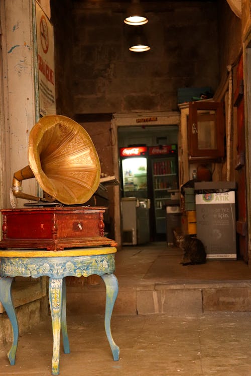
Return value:
<svg viewBox="0 0 251 376">
<path fill-rule="evenodd" d="M 62 313 L 62 284 L 63 279 L 50 278 L 49 280 L 49 302 L 51 308 L 53 354 L 52 374 L 59 374 L 59 345 Z"/>
</svg>

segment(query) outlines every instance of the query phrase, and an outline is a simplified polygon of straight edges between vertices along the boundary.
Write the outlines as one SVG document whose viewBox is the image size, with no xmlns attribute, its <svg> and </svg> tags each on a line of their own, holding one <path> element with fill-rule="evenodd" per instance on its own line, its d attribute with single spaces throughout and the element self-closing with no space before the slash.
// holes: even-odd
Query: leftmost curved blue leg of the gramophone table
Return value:
<svg viewBox="0 0 251 376">
<path fill-rule="evenodd" d="M 16 311 L 12 302 L 12 292 L 11 292 L 12 281 L 13 281 L 12 277 L 0 278 L 0 300 L 3 306 L 5 307 L 5 310 L 12 324 L 13 342 L 12 342 L 12 347 L 10 351 L 8 352 L 8 358 L 10 360 L 11 365 L 14 365 L 16 352 L 17 352 L 17 346 L 18 346 L 19 329 L 18 329 Z"/>
</svg>

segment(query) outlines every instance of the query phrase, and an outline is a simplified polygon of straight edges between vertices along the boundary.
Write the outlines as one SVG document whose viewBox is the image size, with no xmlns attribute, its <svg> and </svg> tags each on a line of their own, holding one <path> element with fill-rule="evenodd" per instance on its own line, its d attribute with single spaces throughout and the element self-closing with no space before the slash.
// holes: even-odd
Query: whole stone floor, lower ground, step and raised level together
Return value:
<svg viewBox="0 0 251 376">
<path fill-rule="evenodd" d="M 97 299 L 104 296 L 103 284 L 80 286 L 69 281 L 71 353 L 61 350 L 60 375 L 249 376 L 250 268 L 242 261 L 182 267 L 181 257 L 179 249 L 164 243 L 126 247 L 117 253 L 119 294 L 111 329 L 120 347 L 119 361 L 112 359 L 104 306 Z M 158 299 L 167 301 L 161 306 Z M 150 314 L 156 307 L 158 314 Z M 0 351 L 0 375 L 50 375 L 50 317 L 20 337 L 14 366 L 7 358 L 9 348 L 7 344 Z"/>
</svg>

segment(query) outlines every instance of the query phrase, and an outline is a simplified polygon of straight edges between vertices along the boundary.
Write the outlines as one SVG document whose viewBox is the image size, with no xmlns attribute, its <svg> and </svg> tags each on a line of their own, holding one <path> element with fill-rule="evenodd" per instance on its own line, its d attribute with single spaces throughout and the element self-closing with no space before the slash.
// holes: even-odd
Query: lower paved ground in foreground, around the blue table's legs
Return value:
<svg viewBox="0 0 251 376">
<path fill-rule="evenodd" d="M 112 317 L 120 347 L 113 361 L 100 315 L 69 316 L 71 353 L 60 354 L 61 376 L 249 376 L 251 314 Z M 52 335 L 48 318 L 19 340 L 16 365 L 0 352 L 0 375 L 51 374 Z"/>
</svg>

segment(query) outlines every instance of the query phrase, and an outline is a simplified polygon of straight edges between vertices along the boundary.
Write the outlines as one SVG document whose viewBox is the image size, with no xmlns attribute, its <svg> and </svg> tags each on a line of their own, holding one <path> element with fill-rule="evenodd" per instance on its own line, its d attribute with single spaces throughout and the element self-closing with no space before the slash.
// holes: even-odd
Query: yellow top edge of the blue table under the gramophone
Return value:
<svg viewBox="0 0 251 376">
<path fill-rule="evenodd" d="M 0 257 L 74 257 L 74 256 L 94 256 L 108 255 L 116 253 L 115 247 L 98 248 L 71 248 L 64 251 L 45 251 L 45 250 L 0 250 Z"/>
</svg>

